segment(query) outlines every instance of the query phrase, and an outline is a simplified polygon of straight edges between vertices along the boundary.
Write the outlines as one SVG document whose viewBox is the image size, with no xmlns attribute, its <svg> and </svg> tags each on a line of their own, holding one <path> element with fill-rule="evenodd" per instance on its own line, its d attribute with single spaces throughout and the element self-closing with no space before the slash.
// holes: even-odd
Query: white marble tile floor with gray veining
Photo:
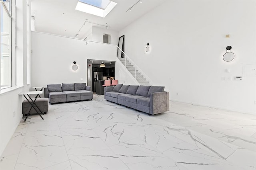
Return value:
<svg viewBox="0 0 256 170">
<path fill-rule="evenodd" d="M 94 95 L 29 118 L 0 170 L 256 169 L 256 115 L 170 102 L 149 116 Z"/>
</svg>

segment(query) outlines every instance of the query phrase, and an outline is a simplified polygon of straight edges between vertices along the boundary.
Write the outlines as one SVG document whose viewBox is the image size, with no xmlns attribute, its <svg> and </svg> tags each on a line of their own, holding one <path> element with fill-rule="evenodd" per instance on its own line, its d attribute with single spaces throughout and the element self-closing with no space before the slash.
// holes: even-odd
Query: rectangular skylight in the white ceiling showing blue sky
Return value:
<svg viewBox="0 0 256 170">
<path fill-rule="evenodd" d="M 115 6 L 110 0 L 78 0 L 76 10 L 104 18 Z"/>
</svg>

